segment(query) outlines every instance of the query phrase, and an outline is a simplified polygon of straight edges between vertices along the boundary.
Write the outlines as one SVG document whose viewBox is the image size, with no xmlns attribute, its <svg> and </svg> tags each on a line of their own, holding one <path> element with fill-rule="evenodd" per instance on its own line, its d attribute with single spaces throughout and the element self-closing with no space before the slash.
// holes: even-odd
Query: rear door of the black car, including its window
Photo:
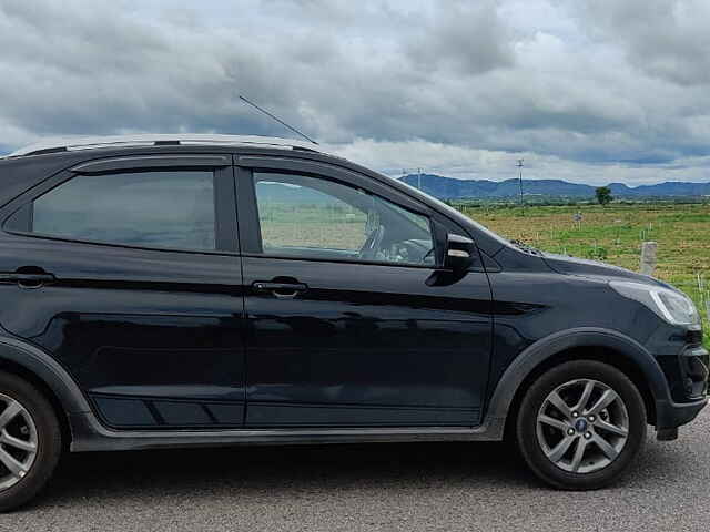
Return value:
<svg viewBox="0 0 710 532">
<path fill-rule="evenodd" d="M 242 276 L 231 155 L 92 161 L 2 211 L 0 324 L 103 421 L 239 427 Z"/>
</svg>

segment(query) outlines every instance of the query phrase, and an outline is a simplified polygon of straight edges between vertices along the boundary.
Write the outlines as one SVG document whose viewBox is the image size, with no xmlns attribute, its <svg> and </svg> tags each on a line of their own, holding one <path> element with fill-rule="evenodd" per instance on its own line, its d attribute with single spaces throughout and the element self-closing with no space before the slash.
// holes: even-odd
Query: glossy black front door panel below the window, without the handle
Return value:
<svg viewBox="0 0 710 532">
<path fill-rule="evenodd" d="M 247 426 L 475 426 L 490 356 L 483 273 L 427 286 L 427 268 L 244 257 Z M 462 297 L 462 291 L 465 296 Z"/>
</svg>

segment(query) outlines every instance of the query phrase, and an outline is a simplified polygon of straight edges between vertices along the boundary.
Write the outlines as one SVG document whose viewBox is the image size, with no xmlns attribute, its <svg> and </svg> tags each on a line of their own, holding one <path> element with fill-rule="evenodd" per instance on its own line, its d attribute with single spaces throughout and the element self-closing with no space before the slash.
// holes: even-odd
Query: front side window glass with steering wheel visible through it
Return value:
<svg viewBox="0 0 710 532">
<path fill-rule="evenodd" d="M 434 264 L 426 216 L 321 177 L 255 173 L 254 178 L 265 254 Z"/>
</svg>

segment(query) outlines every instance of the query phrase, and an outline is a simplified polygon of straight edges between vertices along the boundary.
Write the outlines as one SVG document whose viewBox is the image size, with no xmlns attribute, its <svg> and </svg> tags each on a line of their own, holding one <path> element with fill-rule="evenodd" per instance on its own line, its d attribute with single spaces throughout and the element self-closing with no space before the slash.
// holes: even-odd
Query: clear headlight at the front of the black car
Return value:
<svg viewBox="0 0 710 532">
<path fill-rule="evenodd" d="M 635 299 L 658 314 L 669 324 L 693 325 L 700 315 L 689 297 L 660 286 L 612 280 L 609 286 L 623 297 Z"/>
</svg>

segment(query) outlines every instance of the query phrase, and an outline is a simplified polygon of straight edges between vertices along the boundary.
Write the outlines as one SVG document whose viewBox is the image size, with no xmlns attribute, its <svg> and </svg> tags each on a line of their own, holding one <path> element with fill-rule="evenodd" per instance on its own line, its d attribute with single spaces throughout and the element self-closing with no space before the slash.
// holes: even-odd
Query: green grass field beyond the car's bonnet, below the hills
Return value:
<svg viewBox="0 0 710 532">
<path fill-rule="evenodd" d="M 595 258 L 637 270 L 641 242 L 658 243 L 655 276 L 688 294 L 708 329 L 710 301 L 710 205 L 611 204 L 486 207 L 455 205 L 506 236 L 539 249 Z M 574 219 L 581 213 L 581 223 Z M 710 341 L 706 337 L 706 344 Z"/>
</svg>

